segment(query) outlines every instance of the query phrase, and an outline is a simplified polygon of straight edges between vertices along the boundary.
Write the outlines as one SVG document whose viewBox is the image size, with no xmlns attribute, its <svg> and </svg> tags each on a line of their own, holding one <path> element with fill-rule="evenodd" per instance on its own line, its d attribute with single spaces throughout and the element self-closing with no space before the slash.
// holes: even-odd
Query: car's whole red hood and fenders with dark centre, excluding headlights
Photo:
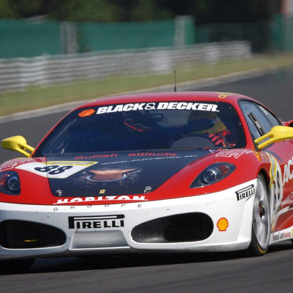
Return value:
<svg viewBox="0 0 293 293">
<path fill-rule="evenodd" d="M 1 202 L 96 205 L 181 198 L 213 194 L 255 179 L 260 169 L 266 174 L 271 170 L 265 153 L 249 149 L 171 151 L 12 159 L 0 170 L 19 174 L 21 193 L 0 193 Z M 236 169 L 214 184 L 190 188 L 204 169 L 218 162 Z"/>
</svg>

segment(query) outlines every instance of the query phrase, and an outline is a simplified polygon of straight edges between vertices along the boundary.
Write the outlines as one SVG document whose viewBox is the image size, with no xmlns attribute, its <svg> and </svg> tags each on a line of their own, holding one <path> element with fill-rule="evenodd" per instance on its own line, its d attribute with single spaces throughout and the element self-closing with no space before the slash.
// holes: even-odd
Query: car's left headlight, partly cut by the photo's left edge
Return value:
<svg viewBox="0 0 293 293">
<path fill-rule="evenodd" d="M 21 192 L 21 182 L 17 172 L 8 171 L 0 173 L 0 192 L 18 195 Z"/>
</svg>

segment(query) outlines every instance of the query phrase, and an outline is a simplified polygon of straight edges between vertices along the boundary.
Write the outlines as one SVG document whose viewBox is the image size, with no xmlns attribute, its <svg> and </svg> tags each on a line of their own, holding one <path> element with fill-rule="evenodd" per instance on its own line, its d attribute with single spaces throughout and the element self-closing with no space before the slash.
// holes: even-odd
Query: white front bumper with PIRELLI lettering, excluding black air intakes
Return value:
<svg viewBox="0 0 293 293">
<path fill-rule="evenodd" d="M 251 240 L 254 193 L 237 200 L 236 191 L 251 184 L 256 186 L 256 179 L 217 193 L 126 204 L 45 206 L 0 203 L 0 223 L 32 221 L 57 227 L 66 236 L 63 245 L 54 247 L 20 249 L 0 246 L 0 259 L 246 249 Z M 194 212 L 204 213 L 212 220 L 212 232 L 204 240 L 143 243 L 132 238 L 133 228 L 144 222 Z M 220 218 L 228 221 L 226 230 L 220 231 L 217 227 Z"/>
</svg>

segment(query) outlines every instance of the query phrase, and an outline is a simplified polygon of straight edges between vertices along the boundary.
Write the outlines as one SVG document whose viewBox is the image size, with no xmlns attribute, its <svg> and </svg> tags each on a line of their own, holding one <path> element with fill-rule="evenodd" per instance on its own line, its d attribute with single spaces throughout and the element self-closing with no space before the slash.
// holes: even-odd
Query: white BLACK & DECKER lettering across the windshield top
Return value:
<svg viewBox="0 0 293 293">
<path fill-rule="evenodd" d="M 218 105 L 193 102 L 134 103 L 99 107 L 97 114 L 143 110 L 198 110 L 216 112 Z"/>
</svg>

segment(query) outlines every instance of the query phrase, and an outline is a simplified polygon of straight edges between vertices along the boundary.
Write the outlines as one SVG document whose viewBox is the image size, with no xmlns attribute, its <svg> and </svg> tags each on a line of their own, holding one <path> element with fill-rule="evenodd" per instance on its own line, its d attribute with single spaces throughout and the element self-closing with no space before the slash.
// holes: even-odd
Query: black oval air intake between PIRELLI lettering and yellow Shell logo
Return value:
<svg viewBox="0 0 293 293">
<path fill-rule="evenodd" d="M 208 238 L 211 218 L 204 213 L 186 213 L 158 218 L 133 228 L 131 236 L 141 243 L 193 242 Z"/>
</svg>

